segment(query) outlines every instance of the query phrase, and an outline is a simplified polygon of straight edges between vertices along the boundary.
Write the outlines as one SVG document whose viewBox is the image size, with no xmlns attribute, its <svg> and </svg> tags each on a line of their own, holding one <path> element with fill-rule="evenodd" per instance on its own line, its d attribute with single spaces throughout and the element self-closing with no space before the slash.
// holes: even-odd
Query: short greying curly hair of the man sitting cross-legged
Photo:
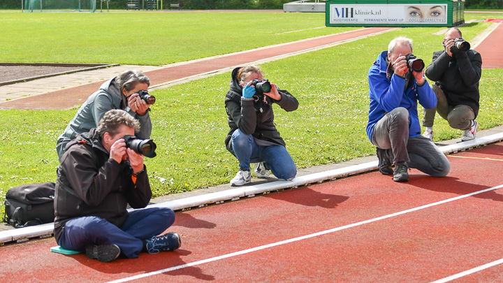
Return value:
<svg viewBox="0 0 503 283">
<path fill-rule="evenodd" d="M 108 110 L 105 115 L 103 115 L 103 118 L 101 118 L 98 123 L 96 132 L 99 134 L 100 138 L 103 138 L 105 133 L 110 133 L 110 136 L 115 136 L 119 133 L 119 127 L 122 125 L 133 128 L 135 133 L 140 131 L 140 122 L 138 122 L 137 119 L 124 110 L 112 109 Z"/>
</svg>

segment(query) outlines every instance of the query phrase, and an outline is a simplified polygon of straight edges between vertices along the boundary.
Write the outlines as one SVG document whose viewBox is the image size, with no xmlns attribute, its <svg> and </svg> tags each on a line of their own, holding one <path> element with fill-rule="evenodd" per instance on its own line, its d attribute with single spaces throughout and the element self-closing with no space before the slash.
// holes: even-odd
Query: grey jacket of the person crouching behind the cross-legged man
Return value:
<svg viewBox="0 0 503 283">
<path fill-rule="evenodd" d="M 98 126 L 99 121 L 108 110 L 126 110 L 131 116 L 140 122 L 140 132 L 136 133 L 138 138 L 150 138 L 152 133 L 152 122 L 149 112 L 141 116 L 131 111 L 127 105 L 126 97 L 119 91 L 119 86 L 115 84 L 115 79 L 107 80 L 101 85 L 97 92 L 91 94 L 82 106 L 80 106 L 75 117 L 70 121 L 64 132 L 57 140 L 57 154 L 59 160 L 63 157 L 66 144 L 75 138 L 78 133 L 87 133 L 92 128 Z"/>
</svg>

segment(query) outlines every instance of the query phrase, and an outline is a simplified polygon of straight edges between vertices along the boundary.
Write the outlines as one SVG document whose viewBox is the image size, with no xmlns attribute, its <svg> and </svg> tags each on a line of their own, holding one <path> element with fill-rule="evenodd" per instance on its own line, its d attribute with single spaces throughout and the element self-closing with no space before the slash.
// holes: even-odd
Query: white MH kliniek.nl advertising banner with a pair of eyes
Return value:
<svg viewBox="0 0 503 283">
<path fill-rule="evenodd" d="M 333 4 L 330 24 L 447 24 L 447 4 Z"/>
</svg>

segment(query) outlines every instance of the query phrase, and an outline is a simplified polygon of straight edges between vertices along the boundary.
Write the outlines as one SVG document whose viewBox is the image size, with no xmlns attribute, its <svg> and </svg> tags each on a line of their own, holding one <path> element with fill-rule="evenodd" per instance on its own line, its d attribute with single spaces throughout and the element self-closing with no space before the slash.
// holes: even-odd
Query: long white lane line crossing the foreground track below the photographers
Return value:
<svg viewBox="0 0 503 283">
<path fill-rule="evenodd" d="M 398 216 L 398 215 L 404 215 L 404 214 L 409 213 L 409 212 L 415 212 L 415 211 L 418 211 L 418 210 L 423 210 L 425 208 L 431 208 L 432 206 L 435 206 L 435 205 L 441 205 L 441 204 L 444 204 L 444 203 L 450 203 L 451 201 L 458 201 L 459 199 L 462 199 L 462 198 L 467 198 L 469 196 L 474 196 L 476 194 L 483 194 L 483 193 L 485 193 L 487 191 L 493 191 L 495 189 L 500 189 L 502 187 L 503 187 L 503 184 L 500 184 L 499 186 L 496 186 L 496 187 L 492 187 L 492 188 L 488 188 L 488 189 L 483 189 L 481 191 L 474 191 L 473 193 L 464 194 L 462 196 L 456 196 L 454 198 L 448 198 L 448 199 L 446 199 L 444 201 L 437 201 L 436 203 L 430 203 L 430 204 L 427 204 L 427 205 L 421 205 L 421 206 L 418 206 L 417 208 L 411 208 L 409 210 L 402 210 L 400 212 L 392 213 L 391 215 L 384 215 L 384 216 L 381 216 L 381 217 L 377 217 L 377 218 L 373 218 L 373 219 L 368 219 L 368 220 L 365 220 L 365 221 L 356 222 L 356 223 L 353 223 L 353 224 L 349 224 L 349 225 L 345 225 L 345 226 L 340 226 L 340 227 L 332 228 L 332 229 L 329 229 L 329 230 L 325 230 L 325 231 L 321 231 L 321 232 L 317 232 L 317 233 L 312 233 L 312 234 L 309 234 L 309 235 L 303 235 L 303 236 L 300 236 L 300 237 L 297 237 L 297 238 L 291 238 L 289 240 L 282 240 L 280 242 L 272 242 L 272 243 L 270 243 L 268 245 L 262 245 L 262 246 L 258 246 L 258 247 L 253 247 L 251 249 L 243 249 L 242 251 L 239 251 L 239 252 L 232 252 L 230 254 L 224 254 L 224 255 L 221 255 L 221 256 L 214 256 L 214 257 L 212 257 L 210 259 L 203 259 L 201 261 L 194 261 L 192 263 L 182 264 L 181 266 L 173 266 L 173 267 L 170 267 L 170 268 L 165 268 L 165 269 L 161 269 L 161 270 L 152 271 L 150 273 L 144 273 L 144 274 L 135 275 L 135 276 L 131 276 L 131 277 L 125 277 L 125 278 L 122 278 L 122 279 L 119 279 L 119 280 L 110 281 L 108 283 L 119 283 L 119 282 L 128 282 L 128 281 L 131 281 L 131 280 L 138 280 L 140 278 L 150 277 L 150 276 L 158 275 L 158 274 L 161 274 L 161 273 L 168 273 L 168 272 L 173 271 L 173 270 L 179 270 L 179 269 L 187 268 L 187 267 L 190 267 L 190 266 L 199 266 L 201 264 L 210 263 L 212 261 L 219 261 L 221 259 L 228 259 L 228 258 L 233 257 L 233 256 L 240 256 L 242 254 L 249 254 L 251 252 L 260 251 L 261 249 L 268 249 L 270 247 L 276 247 L 276 246 L 279 246 L 279 245 L 289 244 L 291 242 L 297 242 L 297 241 L 300 241 L 300 240 L 314 238 L 314 237 L 317 237 L 319 235 L 325 235 L 325 234 L 328 234 L 328 233 L 334 233 L 334 232 L 341 231 L 341 230 L 344 230 L 344 229 L 347 229 L 347 228 L 353 228 L 353 227 L 356 227 L 356 226 L 361 226 L 363 224 L 369 224 L 369 223 L 372 223 L 372 222 L 377 222 L 379 220 L 388 219 L 388 218 L 395 217 L 395 216 Z"/>
</svg>

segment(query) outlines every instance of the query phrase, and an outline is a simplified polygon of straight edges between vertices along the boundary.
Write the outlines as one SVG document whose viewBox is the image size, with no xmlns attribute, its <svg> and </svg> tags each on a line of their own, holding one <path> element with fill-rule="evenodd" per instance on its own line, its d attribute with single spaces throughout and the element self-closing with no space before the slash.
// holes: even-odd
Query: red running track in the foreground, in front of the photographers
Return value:
<svg viewBox="0 0 503 283">
<path fill-rule="evenodd" d="M 0 281 L 432 282 L 503 258 L 503 189 L 490 189 L 503 143 L 449 160 L 444 178 L 372 172 L 177 212 L 182 248 L 139 259 L 54 254 L 54 238 L 6 245 Z M 458 280 L 502 281 L 503 265 Z"/>
</svg>

